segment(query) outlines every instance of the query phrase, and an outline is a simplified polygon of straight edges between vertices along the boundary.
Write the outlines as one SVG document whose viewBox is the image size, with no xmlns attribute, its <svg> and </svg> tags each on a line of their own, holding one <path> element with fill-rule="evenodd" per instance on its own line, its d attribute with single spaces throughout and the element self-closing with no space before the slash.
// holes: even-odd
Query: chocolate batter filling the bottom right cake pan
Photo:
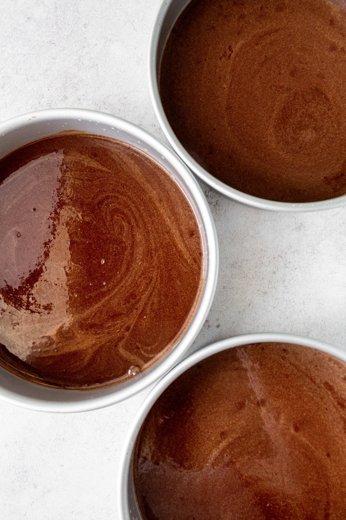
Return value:
<svg viewBox="0 0 346 520">
<path fill-rule="evenodd" d="M 135 448 L 145 520 L 344 520 L 346 365 L 259 343 L 181 375 Z"/>
</svg>

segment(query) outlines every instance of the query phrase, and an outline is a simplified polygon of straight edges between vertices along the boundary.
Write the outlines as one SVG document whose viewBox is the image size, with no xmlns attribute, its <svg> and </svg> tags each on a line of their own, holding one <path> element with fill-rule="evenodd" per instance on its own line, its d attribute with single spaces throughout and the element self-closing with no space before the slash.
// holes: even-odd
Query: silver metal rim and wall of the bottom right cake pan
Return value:
<svg viewBox="0 0 346 520">
<path fill-rule="evenodd" d="M 135 497 L 133 485 L 133 449 L 136 443 L 142 424 L 156 400 L 164 392 L 168 386 L 179 377 L 183 372 L 191 368 L 203 359 L 212 356 L 222 350 L 247 345 L 249 343 L 291 343 L 295 345 L 303 345 L 317 350 L 322 350 L 327 354 L 331 354 L 346 363 L 346 351 L 333 347 L 327 343 L 310 339 L 309 337 L 298 336 L 295 334 L 280 333 L 262 333 L 262 334 L 246 334 L 242 336 L 231 337 L 227 340 L 218 341 L 209 345 L 188 358 L 184 359 L 169 374 L 153 388 L 147 398 L 144 400 L 141 408 L 137 412 L 130 430 L 127 434 L 119 462 L 118 485 L 117 485 L 117 504 L 119 520 L 141 520 L 137 501 Z"/>
</svg>

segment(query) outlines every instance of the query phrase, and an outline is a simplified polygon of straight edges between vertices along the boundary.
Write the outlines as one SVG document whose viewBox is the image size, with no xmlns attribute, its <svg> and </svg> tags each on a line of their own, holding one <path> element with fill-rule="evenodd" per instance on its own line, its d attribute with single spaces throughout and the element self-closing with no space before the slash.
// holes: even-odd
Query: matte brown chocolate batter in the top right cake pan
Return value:
<svg viewBox="0 0 346 520">
<path fill-rule="evenodd" d="M 345 11 L 346 0 L 192 0 L 160 73 L 190 155 L 265 199 L 346 193 Z"/>
</svg>

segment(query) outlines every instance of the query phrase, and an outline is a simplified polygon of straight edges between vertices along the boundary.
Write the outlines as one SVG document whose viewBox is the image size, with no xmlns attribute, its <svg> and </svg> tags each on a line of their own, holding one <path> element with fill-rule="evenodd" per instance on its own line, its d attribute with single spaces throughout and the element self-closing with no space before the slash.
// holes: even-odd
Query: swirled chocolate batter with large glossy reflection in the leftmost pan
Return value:
<svg viewBox="0 0 346 520">
<path fill-rule="evenodd" d="M 199 294 L 195 215 L 172 178 L 115 139 L 65 134 L 0 161 L 0 365 L 109 385 L 174 344 Z"/>
</svg>

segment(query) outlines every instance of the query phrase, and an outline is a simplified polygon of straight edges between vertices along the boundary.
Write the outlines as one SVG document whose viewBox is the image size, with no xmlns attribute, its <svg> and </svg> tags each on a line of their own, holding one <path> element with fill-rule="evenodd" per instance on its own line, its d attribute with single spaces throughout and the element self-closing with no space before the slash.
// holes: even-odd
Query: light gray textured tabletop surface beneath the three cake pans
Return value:
<svg viewBox="0 0 346 520">
<path fill-rule="evenodd" d="M 3 0 L 0 119 L 53 107 L 119 115 L 163 139 L 146 50 L 158 0 Z M 280 214 L 203 187 L 216 222 L 215 301 L 191 350 L 229 335 L 280 331 L 346 347 L 346 208 Z M 148 390 L 76 415 L 0 403 L 0 518 L 116 520 L 119 452 Z"/>
</svg>

